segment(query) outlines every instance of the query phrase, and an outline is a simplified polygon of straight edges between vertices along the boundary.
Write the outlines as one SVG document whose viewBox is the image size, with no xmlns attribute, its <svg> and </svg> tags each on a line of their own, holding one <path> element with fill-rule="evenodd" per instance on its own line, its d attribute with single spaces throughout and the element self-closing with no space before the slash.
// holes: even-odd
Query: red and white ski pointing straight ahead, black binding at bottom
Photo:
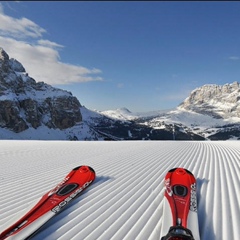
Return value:
<svg viewBox="0 0 240 240">
<path fill-rule="evenodd" d="M 166 174 L 164 185 L 161 239 L 200 240 L 195 177 L 187 169 L 174 168 Z"/>
</svg>

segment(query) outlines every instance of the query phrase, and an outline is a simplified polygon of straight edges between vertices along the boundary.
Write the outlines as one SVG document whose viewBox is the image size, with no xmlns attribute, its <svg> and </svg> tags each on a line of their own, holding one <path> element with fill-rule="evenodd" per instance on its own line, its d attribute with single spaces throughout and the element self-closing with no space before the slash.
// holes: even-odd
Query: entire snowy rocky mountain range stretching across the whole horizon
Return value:
<svg viewBox="0 0 240 240">
<path fill-rule="evenodd" d="M 0 48 L 0 139 L 240 140 L 240 84 L 204 85 L 172 110 L 91 111 Z"/>
</svg>

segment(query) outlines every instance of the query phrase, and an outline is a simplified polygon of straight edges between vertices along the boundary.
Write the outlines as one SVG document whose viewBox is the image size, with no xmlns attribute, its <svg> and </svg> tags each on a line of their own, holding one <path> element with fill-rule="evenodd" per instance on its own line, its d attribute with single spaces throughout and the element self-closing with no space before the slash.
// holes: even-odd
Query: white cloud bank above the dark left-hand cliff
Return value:
<svg viewBox="0 0 240 240">
<path fill-rule="evenodd" d="M 69 84 L 101 81 L 101 70 L 63 63 L 59 48 L 64 46 L 43 39 L 46 30 L 27 18 L 15 19 L 3 12 L 0 4 L 0 47 L 10 58 L 21 62 L 36 81 L 48 84 Z"/>
</svg>

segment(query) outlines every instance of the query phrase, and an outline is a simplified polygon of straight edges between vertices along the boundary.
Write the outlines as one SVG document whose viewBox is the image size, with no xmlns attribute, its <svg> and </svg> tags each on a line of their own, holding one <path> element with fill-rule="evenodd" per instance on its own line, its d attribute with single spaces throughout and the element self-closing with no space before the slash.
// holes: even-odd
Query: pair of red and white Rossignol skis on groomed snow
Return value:
<svg viewBox="0 0 240 240">
<path fill-rule="evenodd" d="M 29 239 L 44 223 L 86 189 L 95 177 L 95 171 L 89 166 L 74 168 L 23 217 L 6 227 L 0 234 L 0 240 Z M 164 183 L 161 236 L 166 236 L 161 240 L 199 240 L 196 179 L 193 174 L 183 168 L 174 168 L 166 174 Z"/>
</svg>

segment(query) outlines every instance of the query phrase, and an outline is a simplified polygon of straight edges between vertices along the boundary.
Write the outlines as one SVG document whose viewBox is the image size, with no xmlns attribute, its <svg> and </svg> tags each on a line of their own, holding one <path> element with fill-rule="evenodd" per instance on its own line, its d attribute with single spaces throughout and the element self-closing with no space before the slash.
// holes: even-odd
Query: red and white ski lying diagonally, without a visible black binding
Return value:
<svg viewBox="0 0 240 240">
<path fill-rule="evenodd" d="M 60 212 L 87 188 L 94 179 L 95 171 L 89 166 L 79 166 L 72 169 L 55 188 L 43 195 L 23 217 L 8 226 L 0 234 L 0 240 L 26 239 Z"/>
</svg>

